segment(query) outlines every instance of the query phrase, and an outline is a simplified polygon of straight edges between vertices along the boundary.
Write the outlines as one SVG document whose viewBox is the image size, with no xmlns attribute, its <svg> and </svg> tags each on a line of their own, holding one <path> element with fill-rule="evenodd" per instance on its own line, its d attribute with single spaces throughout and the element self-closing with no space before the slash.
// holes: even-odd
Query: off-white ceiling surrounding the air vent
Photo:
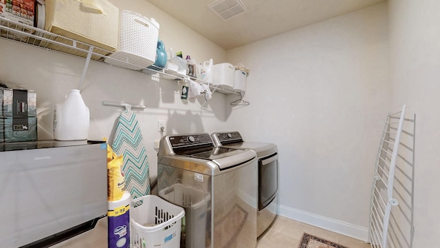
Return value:
<svg viewBox="0 0 440 248">
<path fill-rule="evenodd" d="M 241 0 L 250 10 L 228 21 L 215 0 L 147 0 L 225 50 L 360 10 L 386 0 Z"/>
</svg>

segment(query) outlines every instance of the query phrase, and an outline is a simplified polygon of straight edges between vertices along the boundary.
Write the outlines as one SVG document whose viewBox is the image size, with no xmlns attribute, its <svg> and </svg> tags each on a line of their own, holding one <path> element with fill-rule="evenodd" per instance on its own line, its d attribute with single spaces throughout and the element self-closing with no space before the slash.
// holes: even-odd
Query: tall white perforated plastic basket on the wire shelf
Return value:
<svg viewBox="0 0 440 248">
<path fill-rule="evenodd" d="M 142 70 L 156 60 L 159 23 L 129 10 L 120 13 L 118 48 L 106 63 L 131 70 Z M 129 58 L 126 61 L 126 57 Z M 128 62 L 128 63 L 126 63 Z"/>
</svg>

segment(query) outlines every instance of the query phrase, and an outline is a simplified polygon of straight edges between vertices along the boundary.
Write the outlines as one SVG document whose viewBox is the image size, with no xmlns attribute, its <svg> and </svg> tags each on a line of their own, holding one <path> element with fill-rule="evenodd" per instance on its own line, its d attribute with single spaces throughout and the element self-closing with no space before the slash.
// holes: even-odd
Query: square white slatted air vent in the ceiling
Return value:
<svg viewBox="0 0 440 248">
<path fill-rule="evenodd" d="M 208 5 L 208 8 L 223 21 L 228 21 L 232 17 L 249 12 L 240 0 L 217 0 Z"/>
</svg>

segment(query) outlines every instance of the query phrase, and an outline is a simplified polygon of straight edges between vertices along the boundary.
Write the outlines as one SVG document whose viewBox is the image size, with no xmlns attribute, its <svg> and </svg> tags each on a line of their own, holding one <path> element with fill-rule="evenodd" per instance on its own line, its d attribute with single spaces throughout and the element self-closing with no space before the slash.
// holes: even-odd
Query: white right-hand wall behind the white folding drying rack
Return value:
<svg viewBox="0 0 440 248">
<path fill-rule="evenodd" d="M 415 181 L 413 185 L 403 181 L 405 187 L 414 191 L 413 199 L 399 206 L 407 213 L 399 220 L 406 223 L 413 220 L 409 224 L 414 229 L 414 237 L 403 238 L 401 247 L 437 247 L 440 236 L 437 207 L 440 204 L 440 2 L 391 0 L 388 4 L 391 106 L 396 109 L 406 104 L 408 116 L 416 114 Z"/>
</svg>

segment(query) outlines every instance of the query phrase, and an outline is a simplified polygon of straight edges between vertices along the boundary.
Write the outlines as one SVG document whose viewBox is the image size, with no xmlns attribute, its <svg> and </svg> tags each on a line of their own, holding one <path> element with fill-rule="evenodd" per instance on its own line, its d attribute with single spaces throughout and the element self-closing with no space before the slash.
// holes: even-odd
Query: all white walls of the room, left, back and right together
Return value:
<svg viewBox="0 0 440 248">
<path fill-rule="evenodd" d="M 251 105 L 232 110 L 236 96 L 214 94 L 212 111 L 201 111 L 203 98 L 180 101 L 175 81 L 92 61 L 82 92 L 91 110 L 89 139 L 111 136 L 121 110 L 101 102 L 115 101 L 147 106 L 136 114 L 153 177 L 157 120 L 166 121 L 167 134 L 239 130 L 247 141 L 276 143 L 280 213 L 366 239 L 382 125 L 386 112 L 406 104 L 408 115 L 417 113 L 415 198 L 407 207 L 415 234 L 401 247 L 437 243 L 440 3 L 390 0 L 388 8 L 381 3 L 226 53 L 147 1 L 111 2 L 154 17 L 166 48 L 197 61 L 212 57 L 214 63 L 247 65 L 244 99 Z M 37 91 L 39 138 L 52 138 L 54 104 L 77 87 L 84 59 L 3 39 L 0 54 L 0 80 Z"/>
</svg>

